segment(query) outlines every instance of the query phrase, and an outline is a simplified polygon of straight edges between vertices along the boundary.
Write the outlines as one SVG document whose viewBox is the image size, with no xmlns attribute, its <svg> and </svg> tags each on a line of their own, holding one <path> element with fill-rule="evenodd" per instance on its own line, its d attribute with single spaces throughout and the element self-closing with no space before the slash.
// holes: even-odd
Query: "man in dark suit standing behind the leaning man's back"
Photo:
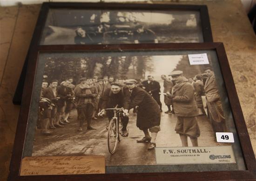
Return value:
<svg viewBox="0 0 256 181">
<path fill-rule="evenodd" d="M 160 112 L 162 112 L 162 103 L 160 101 L 160 84 L 158 81 L 154 80 L 154 77 L 151 75 L 148 75 L 148 80 L 144 80 L 143 82 L 141 82 L 143 88 L 145 89 L 145 91 L 147 91 L 148 94 L 150 94 L 155 101 L 158 103 L 159 107 L 160 107 Z"/>
</svg>

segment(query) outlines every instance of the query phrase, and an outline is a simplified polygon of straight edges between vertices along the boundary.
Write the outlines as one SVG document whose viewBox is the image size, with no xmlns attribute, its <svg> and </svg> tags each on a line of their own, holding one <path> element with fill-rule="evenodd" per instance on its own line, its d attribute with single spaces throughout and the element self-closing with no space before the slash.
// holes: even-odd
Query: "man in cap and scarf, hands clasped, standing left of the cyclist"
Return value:
<svg viewBox="0 0 256 181">
<path fill-rule="evenodd" d="M 79 128 L 78 131 L 82 131 L 83 123 L 87 120 L 87 129 L 96 129 L 91 127 L 92 116 L 94 113 L 94 107 L 96 106 L 96 97 L 98 96 L 98 90 L 93 85 L 93 79 L 87 78 L 84 84 L 77 87 L 75 91 L 77 100 L 77 109 L 79 112 Z"/>
</svg>

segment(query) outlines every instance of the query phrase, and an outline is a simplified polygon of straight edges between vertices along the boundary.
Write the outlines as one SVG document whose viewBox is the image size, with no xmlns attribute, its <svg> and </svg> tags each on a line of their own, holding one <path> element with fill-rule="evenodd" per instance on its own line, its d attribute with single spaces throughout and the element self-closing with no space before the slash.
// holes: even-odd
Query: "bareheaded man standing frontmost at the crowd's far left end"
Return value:
<svg viewBox="0 0 256 181">
<path fill-rule="evenodd" d="M 49 87 L 42 89 L 42 97 L 40 101 L 40 109 L 43 114 L 41 133 L 45 135 L 52 134 L 52 132 L 48 130 L 49 123 L 50 128 L 54 127 L 53 122 L 56 115 L 57 85 L 58 80 L 52 80 Z"/>
</svg>

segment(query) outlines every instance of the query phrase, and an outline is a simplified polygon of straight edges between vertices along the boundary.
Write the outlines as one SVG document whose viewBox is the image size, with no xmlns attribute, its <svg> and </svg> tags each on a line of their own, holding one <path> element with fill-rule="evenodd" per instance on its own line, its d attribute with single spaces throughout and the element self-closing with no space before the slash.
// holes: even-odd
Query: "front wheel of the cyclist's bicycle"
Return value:
<svg viewBox="0 0 256 181">
<path fill-rule="evenodd" d="M 108 151 L 111 154 L 115 153 L 118 141 L 118 125 L 116 118 L 112 118 L 108 125 Z"/>
</svg>

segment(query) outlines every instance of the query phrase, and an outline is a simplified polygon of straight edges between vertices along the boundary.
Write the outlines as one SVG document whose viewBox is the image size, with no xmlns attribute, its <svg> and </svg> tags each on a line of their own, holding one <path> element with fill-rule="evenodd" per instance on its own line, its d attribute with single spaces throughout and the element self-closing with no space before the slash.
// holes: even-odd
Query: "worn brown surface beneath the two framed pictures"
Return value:
<svg viewBox="0 0 256 181">
<path fill-rule="evenodd" d="M 177 2 L 158 2 L 175 3 Z M 206 4 L 213 39 L 223 42 L 256 153 L 256 36 L 240 0 L 179 2 Z M 0 7 L 0 181 L 7 180 L 20 106 L 12 104 L 40 5 Z"/>
</svg>

